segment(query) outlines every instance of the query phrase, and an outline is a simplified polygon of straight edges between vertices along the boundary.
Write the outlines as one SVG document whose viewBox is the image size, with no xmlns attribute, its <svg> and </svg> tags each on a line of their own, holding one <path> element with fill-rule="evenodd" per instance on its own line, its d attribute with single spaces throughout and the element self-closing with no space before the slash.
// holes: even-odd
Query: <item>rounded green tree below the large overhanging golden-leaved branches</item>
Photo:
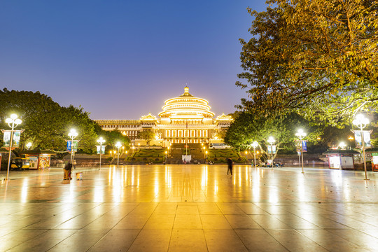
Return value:
<svg viewBox="0 0 378 252">
<path fill-rule="evenodd" d="M 279 150 L 295 150 L 295 132 L 297 129 L 305 129 L 308 133 L 307 139 L 313 141 L 319 134 L 318 127 L 304 120 L 301 116 L 290 113 L 286 116 L 276 118 L 256 118 L 251 113 L 241 113 L 239 117 L 230 125 L 225 137 L 225 143 L 245 150 L 251 148 L 253 141 L 258 141 L 262 155 L 268 158 L 267 139 L 274 137 L 276 140 L 276 154 Z M 276 157 L 274 155 L 273 159 Z"/>
</svg>

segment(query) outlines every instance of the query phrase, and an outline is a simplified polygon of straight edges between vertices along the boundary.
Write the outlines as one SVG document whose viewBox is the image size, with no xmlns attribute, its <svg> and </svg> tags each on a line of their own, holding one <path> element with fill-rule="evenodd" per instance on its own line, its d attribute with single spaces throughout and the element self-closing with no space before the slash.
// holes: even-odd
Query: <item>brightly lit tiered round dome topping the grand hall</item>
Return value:
<svg viewBox="0 0 378 252">
<path fill-rule="evenodd" d="M 160 118 L 171 119 L 203 119 L 213 118 L 214 113 L 206 99 L 194 97 L 189 93 L 189 87 L 179 97 L 167 99 L 159 113 Z"/>
</svg>

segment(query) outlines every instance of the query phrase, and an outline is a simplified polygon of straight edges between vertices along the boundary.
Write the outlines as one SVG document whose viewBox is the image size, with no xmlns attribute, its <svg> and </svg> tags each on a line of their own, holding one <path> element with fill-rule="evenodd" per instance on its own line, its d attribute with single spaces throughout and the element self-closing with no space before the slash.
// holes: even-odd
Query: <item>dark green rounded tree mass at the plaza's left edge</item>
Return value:
<svg viewBox="0 0 378 252">
<path fill-rule="evenodd" d="M 83 108 L 62 107 L 50 97 L 40 92 L 0 90 L 0 127 L 8 129 L 5 118 L 15 113 L 22 120 L 17 129 L 21 134 L 21 149 L 26 141 L 31 141 L 34 148 L 64 151 L 71 128 L 78 132 L 78 148 L 86 153 L 94 151 L 97 134 L 96 123 L 89 118 Z M 2 138 L 1 138 L 2 140 Z"/>
</svg>

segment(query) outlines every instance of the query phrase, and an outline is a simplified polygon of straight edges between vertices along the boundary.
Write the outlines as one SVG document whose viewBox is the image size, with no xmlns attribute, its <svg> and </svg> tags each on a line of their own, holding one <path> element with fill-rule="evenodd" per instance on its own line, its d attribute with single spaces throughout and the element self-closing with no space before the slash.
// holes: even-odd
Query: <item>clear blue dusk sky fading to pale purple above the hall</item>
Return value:
<svg viewBox="0 0 378 252">
<path fill-rule="evenodd" d="M 0 88 L 40 91 L 92 119 L 158 116 L 189 92 L 216 116 L 244 90 L 239 38 L 265 0 L 0 1 Z"/>
</svg>

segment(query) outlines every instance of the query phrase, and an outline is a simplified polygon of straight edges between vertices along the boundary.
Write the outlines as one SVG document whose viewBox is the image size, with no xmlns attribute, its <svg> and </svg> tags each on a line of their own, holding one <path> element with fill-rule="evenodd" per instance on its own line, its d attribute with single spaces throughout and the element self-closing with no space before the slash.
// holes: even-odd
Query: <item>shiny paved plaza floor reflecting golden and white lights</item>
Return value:
<svg viewBox="0 0 378 252">
<path fill-rule="evenodd" d="M 62 169 L 10 172 L 0 184 L 0 251 L 378 251 L 378 173 L 226 172 L 85 167 L 72 181 Z"/>
</svg>

